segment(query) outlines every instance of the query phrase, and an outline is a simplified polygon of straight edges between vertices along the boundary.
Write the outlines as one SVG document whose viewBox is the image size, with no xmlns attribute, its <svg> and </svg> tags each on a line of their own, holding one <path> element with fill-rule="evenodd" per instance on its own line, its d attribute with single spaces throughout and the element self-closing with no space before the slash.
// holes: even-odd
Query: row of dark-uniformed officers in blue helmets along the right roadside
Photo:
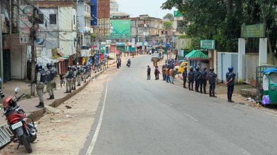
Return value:
<svg viewBox="0 0 277 155">
<path fill-rule="evenodd" d="M 232 101 L 232 95 L 233 95 L 233 89 L 235 85 L 235 74 L 233 73 L 233 67 L 230 66 L 228 68 L 229 72 L 226 73 L 226 85 L 227 85 L 227 96 L 228 96 L 228 102 L 233 103 Z M 210 72 L 206 71 L 206 68 L 203 68 L 201 71 L 199 71 L 199 67 L 193 67 L 190 66 L 189 72 L 187 72 L 187 68 L 184 68 L 184 72 L 182 74 L 183 81 L 184 81 L 184 88 L 186 88 L 186 82 L 188 79 L 188 90 L 193 90 L 193 84 L 195 83 L 195 92 L 200 92 L 206 94 L 206 85 L 207 81 L 210 84 L 209 89 L 209 95 L 211 97 L 215 96 L 215 83 L 217 81 L 217 74 L 214 72 L 214 68 L 210 68 Z M 200 88 L 200 90 L 199 90 Z"/>
</svg>

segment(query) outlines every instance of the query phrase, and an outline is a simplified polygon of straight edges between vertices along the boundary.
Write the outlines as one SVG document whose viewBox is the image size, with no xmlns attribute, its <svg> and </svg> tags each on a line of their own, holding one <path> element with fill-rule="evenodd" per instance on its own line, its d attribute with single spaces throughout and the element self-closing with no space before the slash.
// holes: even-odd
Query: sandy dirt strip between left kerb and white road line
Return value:
<svg viewBox="0 0 277 155">
<path fill-rule="evenodd" d="M 44 114 L 37 121 L 37 140 L 32 143 L 32 154 L 78 154 L 89 135 L 100 98 L 105 91 L 107 73 L 89 83 L 82 92 L 76 94 L 52 112 Z M 71 107 L 71 108 L 68 108 Z M 57 113 L 57 114 L 55 114 Z M 23 145 L 15 149 L 17 143 L 10 143 L 0 150 L 0 154 L 27 154 Z"/>
</svg>

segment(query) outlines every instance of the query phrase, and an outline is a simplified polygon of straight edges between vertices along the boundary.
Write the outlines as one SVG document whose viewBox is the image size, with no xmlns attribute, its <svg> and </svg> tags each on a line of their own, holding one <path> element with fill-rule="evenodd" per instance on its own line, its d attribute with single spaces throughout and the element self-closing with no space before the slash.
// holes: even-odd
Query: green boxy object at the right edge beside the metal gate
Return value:
<svg viewBox="0 0 277 155">
<path fill-rule="evenodd" d="M 277 69 L 265 70 L 262 84 L 262 104 L 277 105 Z"/>
</svg>

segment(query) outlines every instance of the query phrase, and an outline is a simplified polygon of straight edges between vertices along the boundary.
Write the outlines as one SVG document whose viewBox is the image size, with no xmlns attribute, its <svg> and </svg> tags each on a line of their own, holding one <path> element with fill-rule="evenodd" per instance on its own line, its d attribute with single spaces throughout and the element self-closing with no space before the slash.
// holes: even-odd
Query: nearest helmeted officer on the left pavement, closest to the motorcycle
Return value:
<svg viewBox="0 0 277 155">
<path fill-rule="evenodd" d="M 44 92 L 44 83 L 46 78 L 46 73 L 42 69 L 42 65 L 37 63 L 35 65 L 35 69 L 37 70 L 37 77 L 36 80 L 36 90 L 37 90 L 37 96 L 39 96 L 39 105 L 35 105 L 37 108 L 44 107 L 44 99 L 43 99 L 43 92 Z"/>
</svg>

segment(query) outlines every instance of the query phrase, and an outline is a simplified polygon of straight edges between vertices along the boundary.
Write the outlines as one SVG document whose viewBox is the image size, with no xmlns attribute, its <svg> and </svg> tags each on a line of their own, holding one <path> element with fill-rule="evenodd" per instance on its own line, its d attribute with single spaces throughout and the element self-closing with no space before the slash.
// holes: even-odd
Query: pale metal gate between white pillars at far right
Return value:
<svg viewBox="0 0 277 155">
<path fill-rule="evenodd" d="M 259 65 L 258 54 L 245 54 L 243 56 L 243 82 L 256 85 L 256 68 Z"/>
</svg>

